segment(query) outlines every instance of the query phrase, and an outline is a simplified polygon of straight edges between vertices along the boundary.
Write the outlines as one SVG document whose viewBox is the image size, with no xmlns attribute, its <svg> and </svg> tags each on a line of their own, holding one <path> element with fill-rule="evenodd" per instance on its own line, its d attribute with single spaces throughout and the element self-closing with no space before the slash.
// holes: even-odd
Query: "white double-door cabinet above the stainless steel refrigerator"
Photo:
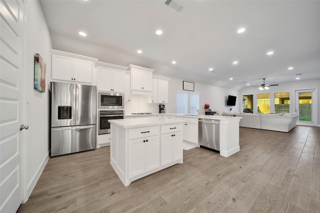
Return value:
<svg viewBox="0 0 320 213">
<path fill-rule="evenodd" d="M 92 82 L 93 61 L 83 55 L 51 49 L 52 79 L 83 83 Z"/>
</svg>

